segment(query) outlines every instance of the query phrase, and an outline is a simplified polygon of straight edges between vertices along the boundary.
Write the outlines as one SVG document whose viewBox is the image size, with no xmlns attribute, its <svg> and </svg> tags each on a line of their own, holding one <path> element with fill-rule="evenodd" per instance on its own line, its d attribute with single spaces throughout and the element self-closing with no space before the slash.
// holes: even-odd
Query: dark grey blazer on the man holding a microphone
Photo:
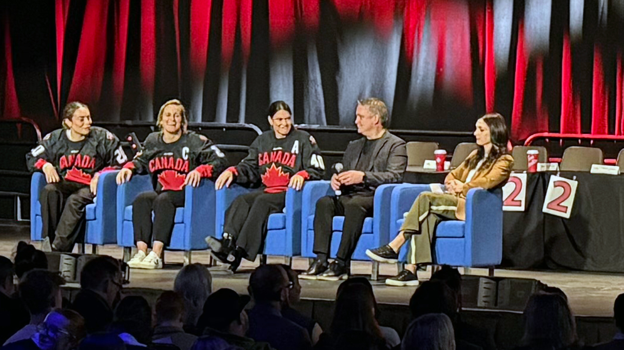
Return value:
<svg viewBox="0 0 624 350">
<path fill-rule="evenodd" d="M 383 184 L 401 182 L 407 166 L 405 141 L 386 130 L 384 136 L 381 136 L 379 142 L 375 144 L 373 161 L 369 168 L 356 169 L 364 143 L 366 143 L 365 137 L 349 142 L 346 151 L 344 151 L 343 171 L 364 171 L 366 174 L 364 187 L 367 187 L 370 191 L 374 191 Z"/>
</svg>

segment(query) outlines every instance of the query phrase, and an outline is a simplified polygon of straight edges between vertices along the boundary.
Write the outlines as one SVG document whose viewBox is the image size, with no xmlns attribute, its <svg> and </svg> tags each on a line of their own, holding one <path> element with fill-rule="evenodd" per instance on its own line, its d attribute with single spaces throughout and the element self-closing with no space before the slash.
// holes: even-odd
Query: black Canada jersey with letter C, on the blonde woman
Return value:
<svg viewBox="0 0 624 350">
<path fill-rule="evenodd" d="M 180 191 L 191 171 L 199 171 L 202 177 L 215 177 L 226 164 L 225 154 L 206 136 L 187 131 L 177 141 L 166 143 L 162 132 L 155 132 L 147 135 L 143 150 L 124 168 L 137 174 L 149 173 L 158 191 Z"/>
</svg>

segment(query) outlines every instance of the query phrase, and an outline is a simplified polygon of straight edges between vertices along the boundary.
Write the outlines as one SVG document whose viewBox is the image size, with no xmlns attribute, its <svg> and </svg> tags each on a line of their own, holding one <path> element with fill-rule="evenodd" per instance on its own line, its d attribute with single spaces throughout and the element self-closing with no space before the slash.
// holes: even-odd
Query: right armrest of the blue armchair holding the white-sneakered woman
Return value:
<svg viewBox="0 0 624 350">
<path fill-rule="evenodd" d="M 201 179 L 199 186 L 186 186 L 184 191 L 185 237 L 202 243 L 204 237 L 215 235 L 215 225 L 210 225 L 215 222 L 215 182 Z"/>
</svg>

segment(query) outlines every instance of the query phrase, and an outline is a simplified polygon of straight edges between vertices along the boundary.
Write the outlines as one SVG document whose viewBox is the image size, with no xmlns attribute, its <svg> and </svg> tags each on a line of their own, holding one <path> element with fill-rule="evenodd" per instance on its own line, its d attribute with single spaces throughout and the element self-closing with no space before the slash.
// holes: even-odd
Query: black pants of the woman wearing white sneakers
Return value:
<svg viewBox="0 0 624 350">
<path fill-rule="evenodd" d="M 132 226 L 134 242 L 152 245 L 152 239 L 169 245 L 173 231 L 175 208 L 184 206 L 182 191 L 146 191 L 139 194 L 132 202 Z M 152 223 L 152 210 L 154 222 Z"/>
</svg>

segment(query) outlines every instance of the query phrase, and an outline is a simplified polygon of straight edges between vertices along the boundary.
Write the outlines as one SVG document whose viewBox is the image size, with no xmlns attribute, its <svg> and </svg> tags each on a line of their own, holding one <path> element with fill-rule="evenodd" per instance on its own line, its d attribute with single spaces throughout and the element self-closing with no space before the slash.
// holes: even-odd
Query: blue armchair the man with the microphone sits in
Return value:
<svg viewBox="0 0 624 350">
<path fill-rule="evenodd" d="M 369 260 L 366 256 L 366 249 L 388 244 L 391 216 L 388 210 L 393 189 L 399 184 L 384 184 L 377 187 L 374 197 L 373 217 L 364 219 L 362 235 L 358 240 L 355 251 L 351 258 L 353 260 Z M 310 181 L 303 189 L 301 204 L 301 255 L 312 258 L 316 255 L 314 247 L 314 212 L 316 202 L 323 196 L 334 195 L 329 181 Z M 344 216 L 334 216 L 332 222 L 333 234 L 331 237 L 331 252 L 329 255 L 335 257 L 338 252 L 340 240 L 343 232 Z M 376 280 L 378 277 L 377 262 L 373 262 L 373 272 L 371 277 Z"/>
</svg>

